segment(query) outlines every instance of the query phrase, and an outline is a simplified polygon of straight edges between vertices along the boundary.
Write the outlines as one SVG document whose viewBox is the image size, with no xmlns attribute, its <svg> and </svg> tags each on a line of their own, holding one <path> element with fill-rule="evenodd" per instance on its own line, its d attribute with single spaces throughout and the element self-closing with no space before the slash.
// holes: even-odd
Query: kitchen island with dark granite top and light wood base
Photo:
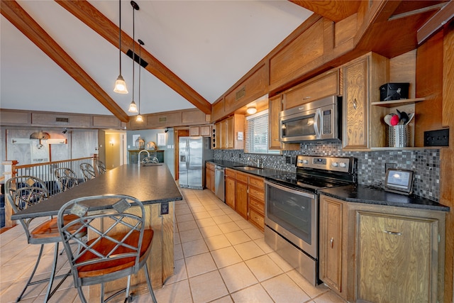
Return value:
<svg viewBox="0 0 454 303">
<path fill-rule="evenodd" d="M 153 288 L 160 288 L 164 281 L 173 275 L 174 249 L 174 209 L 175 201 L 182 200 L 177 184 L 165 164 L 143 166 L 137 164 L 121 165 L 109 170 L 66 192 L 50 197 L 43 203 L 36 204 L 11 216 L 12 220 L 56 216 L 66 202 L 98 194 L 126 194 L 140 200 L 147 212 L 148 226 L 155 231 L 153 247 L 148 260 Z M 103 205 L 96 206 L 103 211 Z M 148 227 L 147 226 L 147 227 Z M 126 280 L 106 284 L 106 293 L 122 289 Z M 89 289 L 89 301 L 95 301 L 99 295 L 98 285 Z M 131 290 L 148 292 L 143 272 L 131 279 Z"/>
</svg>

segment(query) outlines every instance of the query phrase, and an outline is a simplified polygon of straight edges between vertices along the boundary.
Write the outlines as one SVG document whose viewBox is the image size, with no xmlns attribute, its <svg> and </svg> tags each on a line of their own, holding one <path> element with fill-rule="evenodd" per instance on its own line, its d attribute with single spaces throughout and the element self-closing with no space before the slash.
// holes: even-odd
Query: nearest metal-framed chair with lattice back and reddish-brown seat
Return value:
<svg viewBox="0 0 454 303">
<path fill-rule="evenodd" d="M 111 209 L 101 213 L 90 211 L 99 204 L 111 206 Z M 77 215 L 79 218 L 66 223 L 64 214 Z M 77 198 L 63 205 L 57 217 L 60 235 L 70 260 L 74 287 L 82 302 L 87 302 L 82 287 L 96 284 L 101 284 L 101 302 L 121 292 L 126 292 L 125 302 L 131 302 L 131 275 L 144 268 L 148 290 L 156 303 L 147 268 L 153 229 L 145 228 L 145 208 L 138 199 L 120 194 Z M 76 236 L 77 231 L 74 231 L 74 226 L 79 225 L 86 227 L 94 238 L 89 238 L 87 242 L 80 241 Z M 70 241 L 79 242 L 82 249 L 73 253 Z M 104 301 L 104 283 L 126 276 L 126 288 Z"/>
</svg>

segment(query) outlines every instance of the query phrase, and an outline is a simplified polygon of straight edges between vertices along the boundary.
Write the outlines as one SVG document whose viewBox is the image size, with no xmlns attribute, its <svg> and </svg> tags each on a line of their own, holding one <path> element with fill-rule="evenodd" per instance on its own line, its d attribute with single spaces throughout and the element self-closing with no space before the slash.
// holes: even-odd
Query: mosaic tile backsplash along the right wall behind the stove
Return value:
<svg viewBox="0 0 454 303">
<path fill-rule="evenodd" d="M 337 142 L 301 143 L 300 150 L 285 150 L 282 155 L 244 153 L 243 150 L 214 150 L 214 159 L 256 165 L 261 159 L 264 166 L 294 172 L 296 167 L 287 164 L 285 156 L 329 155 L 358 159 L 358 183 L 384 184 L 386 167 L 414 170 L 414 194 L 438 202 L 440 198 L 440 150 L 380 150 L 353 152 L 342 150 Z"/>
</svg>

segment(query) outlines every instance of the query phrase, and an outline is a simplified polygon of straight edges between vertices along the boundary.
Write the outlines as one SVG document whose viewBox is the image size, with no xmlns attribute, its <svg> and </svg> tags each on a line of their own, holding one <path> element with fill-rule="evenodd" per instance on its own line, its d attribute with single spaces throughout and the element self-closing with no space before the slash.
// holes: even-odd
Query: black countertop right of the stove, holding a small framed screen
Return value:
<svg viewBox="0 0 454 303">
<path fill-rule="evenodd" d="M 365 204 L 377 204 L 388 206 L 409 207 L 414 209 L 428 209 L 435 211 L 449 211 L 449 207 L 429 199 L 418 196 L 406 196 L 394 194 L 383 189 L 374 189 L 364 185 L 348 185 L 343 187 L 332 187 L 321 189 L 320 194 L 341 199 L 346 202 L 357 202 Z"/>
</svg>

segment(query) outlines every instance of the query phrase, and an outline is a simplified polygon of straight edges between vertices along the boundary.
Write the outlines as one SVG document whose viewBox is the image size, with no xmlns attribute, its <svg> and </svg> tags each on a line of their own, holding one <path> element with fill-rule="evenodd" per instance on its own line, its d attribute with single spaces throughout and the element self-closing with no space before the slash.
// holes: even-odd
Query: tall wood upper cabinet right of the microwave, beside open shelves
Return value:
<svg viewBox="0 0 454 303">
<path fill-rule="evenodd" d="M 385 110 L 371 108 L 370 103 L 380 100 L 379 88 L 387 82 L 387 70 L 387 58 L 375 53 L 343 66 L 343 148 L 386 146 L 381 121 Z"/>
</svg>

